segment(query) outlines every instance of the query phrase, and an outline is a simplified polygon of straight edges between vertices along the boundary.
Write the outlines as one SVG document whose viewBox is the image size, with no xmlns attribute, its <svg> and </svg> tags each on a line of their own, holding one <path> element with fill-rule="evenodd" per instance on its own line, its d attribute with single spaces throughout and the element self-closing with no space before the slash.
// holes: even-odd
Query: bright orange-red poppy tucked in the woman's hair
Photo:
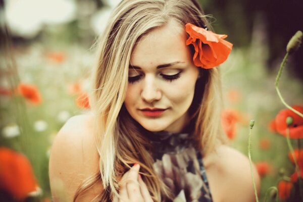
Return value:
<svg viewBox="0 0 303 202">
<path fill-rule="evenodd" d="M 232 44 L 224 40 L 227 35 L 215 34 L 190 23 L 185 25 L 185 31 L 189 34 L 186 45 L 194 46 L 192 59 L 195 66 L 210 69 L 226 61 L 232 48 Z"/>
</svg>

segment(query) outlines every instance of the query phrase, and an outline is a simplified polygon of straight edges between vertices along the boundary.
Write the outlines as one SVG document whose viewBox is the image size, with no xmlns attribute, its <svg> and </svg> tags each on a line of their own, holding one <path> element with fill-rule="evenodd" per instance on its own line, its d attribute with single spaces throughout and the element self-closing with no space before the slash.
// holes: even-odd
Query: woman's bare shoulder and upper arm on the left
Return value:
<svg viewBox="0 0 303 202">
<path fill-rule="evenodd" d="M 49 180 L 54 201 L 71 201 L 83 180 L 98 171 L 93 121 L 92 115 L 70 118 L 53 142 Z"/>
</svg>

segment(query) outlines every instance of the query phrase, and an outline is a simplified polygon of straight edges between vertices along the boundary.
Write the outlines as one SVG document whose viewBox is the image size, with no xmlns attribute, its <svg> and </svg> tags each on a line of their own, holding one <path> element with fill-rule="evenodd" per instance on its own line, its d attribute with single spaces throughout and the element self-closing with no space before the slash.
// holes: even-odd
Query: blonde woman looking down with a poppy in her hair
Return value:
<svg viewBox="0 0 303 202">
<path fill-rule="evenodd" d="M 118 5 L 99 41 L 92 112 L 53 144 L 54 201 L 255 200 L 249 162 L 220 125 L 216 66 L 232 45 L 208 28 L 195 0 Z"/>
</svg>

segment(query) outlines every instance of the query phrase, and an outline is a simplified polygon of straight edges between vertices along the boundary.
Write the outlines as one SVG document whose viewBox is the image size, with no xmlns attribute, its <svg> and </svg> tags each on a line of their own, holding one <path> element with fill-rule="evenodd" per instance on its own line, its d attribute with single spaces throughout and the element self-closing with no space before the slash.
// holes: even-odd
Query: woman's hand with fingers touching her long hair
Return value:
<svg viewBox="0 0 303 202">
<path fill-rule="evenodd" d="M 114 202 L 153 202 L 139 170 L 140 165 L 135 164 L 122 176 L 119 196 L 114 197 Z"/>
</svg>

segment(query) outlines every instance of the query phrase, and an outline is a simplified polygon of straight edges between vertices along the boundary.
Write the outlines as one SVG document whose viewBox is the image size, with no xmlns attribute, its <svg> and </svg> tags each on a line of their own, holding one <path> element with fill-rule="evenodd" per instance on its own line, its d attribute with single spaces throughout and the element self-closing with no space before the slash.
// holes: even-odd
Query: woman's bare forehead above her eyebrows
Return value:
<svg viewBox="0 0 303 202">
<path fill-rule="evenodd" d="M 176 61 L 189 62 L 190 50 L 185 42 L 185 28 L 171 21 L 138 40 L 130 63 L 141 68 L 150 68 Z"/>
</svg>

